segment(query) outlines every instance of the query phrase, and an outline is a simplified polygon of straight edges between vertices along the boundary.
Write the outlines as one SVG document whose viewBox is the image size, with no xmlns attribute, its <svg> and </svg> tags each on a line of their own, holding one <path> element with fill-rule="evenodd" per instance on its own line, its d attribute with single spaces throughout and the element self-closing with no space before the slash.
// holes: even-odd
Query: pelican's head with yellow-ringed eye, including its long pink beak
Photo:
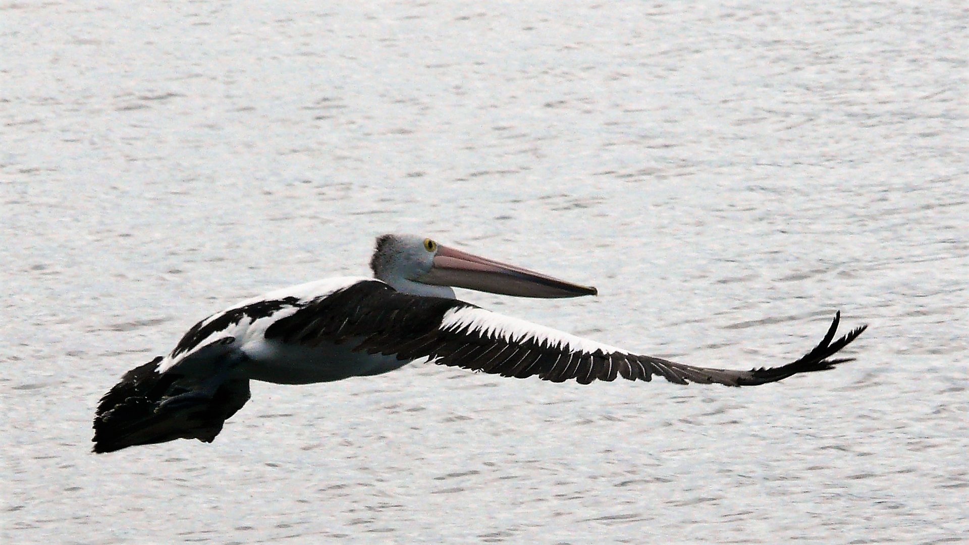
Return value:
<svg viewBox="0 0 969 545">
<path fill-rule="evenodd" d="M 370 269 L 378 280 L 412 295 L 453 299 L 452 287 L 544 299 L 597 293 L 591 286 L 499 263 L 416 235 L 378 237 Z"/>
</svg>

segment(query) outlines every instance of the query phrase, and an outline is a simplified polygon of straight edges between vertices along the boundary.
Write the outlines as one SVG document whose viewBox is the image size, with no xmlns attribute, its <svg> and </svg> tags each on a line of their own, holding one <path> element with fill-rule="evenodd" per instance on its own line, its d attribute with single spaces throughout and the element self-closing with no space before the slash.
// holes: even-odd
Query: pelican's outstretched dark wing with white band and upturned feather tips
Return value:
<svg viewBox="0 0 969 545">
<path fill-rule="evenodd" d="M 850 358 L 829 359 L 867 326 L 834 340 L 835 314 L 828 334 L 796 362 L 770 369 L 710 369 L 634 354 L 614 346 L 504 316 L 448 299 L 401 294 L 383 282 L 359 282 L 305 305 L 266 329 L 267 339 L 318 346 L 347 343 L 354 351 L 431 361 L 502 376 L 538 375 L 554 382 L 576 379 L 650 380 L 754 386 L 791 375 L 831 369 Z"/>
</svg>

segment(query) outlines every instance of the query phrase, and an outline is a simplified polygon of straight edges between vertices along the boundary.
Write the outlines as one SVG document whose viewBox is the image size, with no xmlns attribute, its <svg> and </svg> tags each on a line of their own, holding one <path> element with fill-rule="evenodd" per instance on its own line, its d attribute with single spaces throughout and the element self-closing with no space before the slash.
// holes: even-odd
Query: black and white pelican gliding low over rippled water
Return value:
<svg viewBox="0 0 969 545">
<path fill-rule="evenodd" d="M 249 401 L 249 381 L 331 382 L 399 369 L 415 360 L 552 382 L 588 384 L 663 376 L 754 386 L 832 369 L 829 359 L 861 326 L 828 333 L 797 361 L 777 368 L 708 369 L 644 356 L 458 301 L 453 287 L 516 297 L 596 295 L 559 280 L 413 235 L 377 238 L 374 278 L 335 277 L 232 305 L 197 323 L 166 356 L 128 371 L 101 399 L 94 452 L 178 438 L 212 442 Z"/>
</svg>

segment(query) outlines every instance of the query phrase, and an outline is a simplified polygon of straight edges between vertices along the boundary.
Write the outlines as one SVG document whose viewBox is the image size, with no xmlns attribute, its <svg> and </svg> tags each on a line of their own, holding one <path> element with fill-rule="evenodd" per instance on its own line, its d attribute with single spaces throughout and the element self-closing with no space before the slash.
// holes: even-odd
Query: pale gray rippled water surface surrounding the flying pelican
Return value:
<svg viewBox="0 0 969 545">
<path fill-rule="evenodd" d="M 969 541 L 959 3 L 0 6 L 4 543 Z M 415 232 L 479 305 L 780 384 L 432 365 L 89 453 L 195 321 Z"/>
</svg>

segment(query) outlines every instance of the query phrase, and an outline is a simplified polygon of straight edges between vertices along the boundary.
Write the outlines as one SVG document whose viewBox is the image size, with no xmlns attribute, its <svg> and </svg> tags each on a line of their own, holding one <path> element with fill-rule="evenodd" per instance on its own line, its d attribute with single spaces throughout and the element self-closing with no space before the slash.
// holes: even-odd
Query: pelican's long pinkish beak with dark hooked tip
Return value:
<svg viewBox="0 0 969 545">
<path fill-rule="evenodd" d="M 434 265 L 419 282 L 436 286 L 452 286 L 500 295 L 536 297 L 543 299 L 596 295 L 592 286 L 582 286 L 514 265 L 499 263 L 484 257 L 438 244 Z"/>
</svg>

